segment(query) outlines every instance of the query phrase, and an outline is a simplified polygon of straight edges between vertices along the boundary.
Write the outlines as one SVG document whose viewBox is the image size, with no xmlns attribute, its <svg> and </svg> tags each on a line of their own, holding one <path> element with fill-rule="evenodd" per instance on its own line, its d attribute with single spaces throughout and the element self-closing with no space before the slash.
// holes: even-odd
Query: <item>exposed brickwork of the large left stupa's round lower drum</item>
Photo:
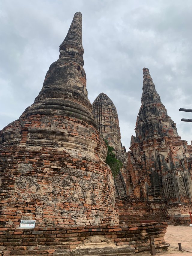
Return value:
<svg viewBox="0 0 192 256">
<path fill-rule="evenodd" d="M 30 116 L 28 123 L 31 121 L 33 127 L 26 129 L 25 141 L 21 137 L 17 143 L 2 145 L 0 221 L 6 227 L 18 227 L 21 218 L 36 219 L 39 226 L 117 224 L 113 177 L 107 164 L 86 149 L 67 150 L 61 145 L 62 139 L 58 142 L 55 135 L 55 147 L 42 146 L 47 143 L 42 138 L 35 141 L 33 131 L 45 125 L 51 129 L 54 120 L 60 131 L 67 128 L 70 136 L 87 126 L 82 120 L 63 120 L 62 116 L 52 116 L 52 122 L 46 116 Z M 11 129 L 16 131 L 21 123 L 25 120 L 13 122 Z M 89 129 L 93 128 L 89 125 Z M 98 140 L 99 147 L 101 142 L 96 137 L 99 134 L 94 134 L 93 130 L 89 134 L 87 139 Z"/>
</svg>

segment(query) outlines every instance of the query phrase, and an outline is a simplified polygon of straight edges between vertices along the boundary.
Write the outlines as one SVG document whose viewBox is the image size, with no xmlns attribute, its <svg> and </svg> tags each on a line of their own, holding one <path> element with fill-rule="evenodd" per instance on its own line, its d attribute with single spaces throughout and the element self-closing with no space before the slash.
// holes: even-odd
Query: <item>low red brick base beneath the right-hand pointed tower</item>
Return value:
<svg viewBox="0 0 192 256">
<path fill-rule="evenodd" d="M 116 199 L 115 206 L 119 209 L 119 223 L 140 223 L 143 220 L 166 221 L 172 225 L 190 225 L 190 205 L 177 204 L 164 207 L 161 202 L 148 203 L 140 197 L 130 196 L 123 200 Z"/>
</svg>

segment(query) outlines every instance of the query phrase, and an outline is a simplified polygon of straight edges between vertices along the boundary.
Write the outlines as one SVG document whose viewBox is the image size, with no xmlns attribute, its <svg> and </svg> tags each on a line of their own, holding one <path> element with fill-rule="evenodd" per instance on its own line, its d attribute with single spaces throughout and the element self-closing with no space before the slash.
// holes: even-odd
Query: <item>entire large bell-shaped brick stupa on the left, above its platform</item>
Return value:
<svg viewBox="0 0 192 256">
<path fill-rule="evenodd" d="M 4 227 L 18 227 L 20 219 L 41 227 L 118 223 L 83 64 L 78 12 L 35 102 L 0 131 Z"/>
</svg>

